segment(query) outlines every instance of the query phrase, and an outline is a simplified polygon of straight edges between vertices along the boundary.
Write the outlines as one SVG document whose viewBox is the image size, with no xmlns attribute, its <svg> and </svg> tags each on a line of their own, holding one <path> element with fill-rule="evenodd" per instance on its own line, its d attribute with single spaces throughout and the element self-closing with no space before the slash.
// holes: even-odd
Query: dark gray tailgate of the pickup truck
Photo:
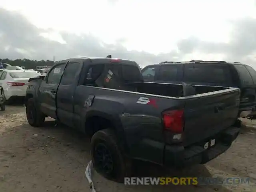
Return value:
<svg viewBox="0 0 256 192">
<path fill-rule="evenodd" d="M 184 146 L 211 138 L 232 126 L 237 118 L 239 98 L 238 88 L 187 97 L 184 109 Z"/>
</svg>

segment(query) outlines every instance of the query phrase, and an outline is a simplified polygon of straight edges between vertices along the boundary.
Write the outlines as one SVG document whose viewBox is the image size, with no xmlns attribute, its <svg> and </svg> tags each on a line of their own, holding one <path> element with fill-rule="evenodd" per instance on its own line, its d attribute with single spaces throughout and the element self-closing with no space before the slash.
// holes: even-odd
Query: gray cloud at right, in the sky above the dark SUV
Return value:
<svg viewBox="0 0 256 192">
<path fill-rule="evenodd" d="M 256 19 L 243 18 L 232 21 L 229 43 L 203 42 L 191 37 L 178 42 L 178 49 L 183 54 L 199 50 L 202 53 L 225 54 L 226 60 L 251 62 L 256 61 Z M 221 29 L 220 29 L 221 30 Z M 248 58 L 248 56 L 251 56 Z M 255 64 L 256 67 L 256 64 Z"/>
</svg>

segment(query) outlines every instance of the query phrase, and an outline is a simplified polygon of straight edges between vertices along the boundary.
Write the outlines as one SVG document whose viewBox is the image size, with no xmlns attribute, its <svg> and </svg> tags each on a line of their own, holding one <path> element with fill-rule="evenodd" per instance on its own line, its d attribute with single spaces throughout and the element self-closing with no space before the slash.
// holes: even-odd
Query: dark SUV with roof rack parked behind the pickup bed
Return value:
<svg viewBox="0 0 256 192">
<path fill-rule="evenodd" d="M 241 90 L 238 117 L 256 119 L 256 71 L 240 62 L 202 61 L 161 62 L 142 69 L 147 82 L 237 87 Z"/>
</svg>

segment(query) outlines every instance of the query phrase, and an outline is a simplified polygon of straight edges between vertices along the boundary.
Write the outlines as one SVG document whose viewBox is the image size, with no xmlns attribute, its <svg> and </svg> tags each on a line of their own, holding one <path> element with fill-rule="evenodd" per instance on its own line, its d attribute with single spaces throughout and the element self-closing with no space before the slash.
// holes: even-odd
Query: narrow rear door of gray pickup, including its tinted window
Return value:
<svg viewBox="0 0 256 192">
<path fill-rule="evenodd" d="M 58 87 L 57 115 L 60 122 L 74 127 L 74 91 L 78 86 L 82 62 L 69 62 Z"/>
</svg>

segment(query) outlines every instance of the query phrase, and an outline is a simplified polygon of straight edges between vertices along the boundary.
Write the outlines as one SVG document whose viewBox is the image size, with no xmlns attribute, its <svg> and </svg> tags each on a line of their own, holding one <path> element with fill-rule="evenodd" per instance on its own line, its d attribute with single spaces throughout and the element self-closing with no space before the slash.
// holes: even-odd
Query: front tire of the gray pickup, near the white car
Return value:
<svg viewBox="0 0 256 192">
<path fill-rule="evenodd" d="M 45 116 L 36 108 L 34 98 L 28 99 L 26 106 L 26 116 L 28 124 L 33 127 L 41 127 L 44 125 Z"/>
</svg>

